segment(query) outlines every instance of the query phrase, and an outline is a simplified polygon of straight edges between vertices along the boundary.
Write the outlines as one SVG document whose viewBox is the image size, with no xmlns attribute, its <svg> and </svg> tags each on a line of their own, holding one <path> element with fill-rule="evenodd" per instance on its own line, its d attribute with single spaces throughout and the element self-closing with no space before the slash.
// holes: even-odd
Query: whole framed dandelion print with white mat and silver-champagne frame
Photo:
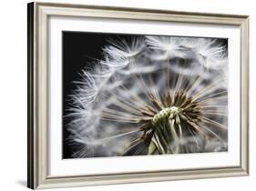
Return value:
<svg viewBox="0 0 256 191">
<path fill-rule="evenodd" d="M 28 187 L 249 174 L 249 16 L 28 4 Z"/>
</svg>

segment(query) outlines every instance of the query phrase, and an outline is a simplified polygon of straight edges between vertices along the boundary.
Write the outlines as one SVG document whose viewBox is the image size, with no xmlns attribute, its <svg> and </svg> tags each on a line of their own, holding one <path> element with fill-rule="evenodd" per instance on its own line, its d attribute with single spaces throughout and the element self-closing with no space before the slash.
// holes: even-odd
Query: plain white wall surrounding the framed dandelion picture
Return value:
<svg viewBox="0 0 256 191">
<path fill-rule="evenodd" d="M 26 0 L 0 5 L 0 190 L 26 190 Z M 251 175 L 162 183 L 66 188 L 64 190 L 252 190 L 256 183 L 256 12 L 253 0 L 69 0 L 87 5 L 118 5 L 154 9 L 243 14 L 251 16 Z M 129 164 L 132 166 L 132 164 Z"/>
</svg>

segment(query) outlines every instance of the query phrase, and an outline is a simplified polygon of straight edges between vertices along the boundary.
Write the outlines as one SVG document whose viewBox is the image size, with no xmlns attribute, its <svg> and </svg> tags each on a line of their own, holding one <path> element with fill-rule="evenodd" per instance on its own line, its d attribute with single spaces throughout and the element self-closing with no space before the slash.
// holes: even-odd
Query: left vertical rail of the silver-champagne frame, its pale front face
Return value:
<svg viewBox="0 0 256 191">
<path fill-rule="evenodd" d="M 37 62 L 37 85 L 36 90 L 37 95 L 37 106 L 38 110 L 38 126 L 37 126 L 37 142 L 38 145 L 38 155 L 37 155 L 37 180 L 38 188 L 41 184 L 46 181 L 48 173 L 48 60 L 47 60 L 47 46 L 48 46 L 48 15 L 46 14 L 44 8 L 36 4 L 36 39 L 38 44 L 38 49 L 36 50 L 36 62 Z M 36 187 L 36 188 L 37 188 Z"/>
</svg>

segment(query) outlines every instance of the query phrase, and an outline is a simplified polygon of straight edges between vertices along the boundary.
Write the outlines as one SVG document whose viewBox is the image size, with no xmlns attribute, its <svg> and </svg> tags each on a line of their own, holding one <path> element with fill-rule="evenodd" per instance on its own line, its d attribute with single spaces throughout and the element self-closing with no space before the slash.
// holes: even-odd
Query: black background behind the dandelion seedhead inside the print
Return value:
<svg viewBox="0 0 256 191">
<path fill-rule="evenodd" d="M 63 31 L 62 33 L 62 112 L 63 116 L 67 116 L 68 108 L 68 95 L 72 94 L 72 91 L 76 89 L 76 85 L 73 83 L 75 80 L 79 80 L 78 73 L 81 72 L 85 66 L 93 69 L 95 59 L 103 59 L 102 48 L 108 45 L 108 40 L 119 41 L 124 39 L 127 42 L 131 37 L 138 35 L 120 35 L 120 34 L 106 34 L 106 33 L 87 33 L 87 32 L 71 32 Z M 217 43 L 223 43 L 228 45 L 228 39 L 218 39 Z M 68 145 L 67 137 L 69 133 L 67 131 L 67 118 L 64 117 L 62 121 L 63 128 L 63 158 L 72 158 L 72 147 Z"/>
</svg>

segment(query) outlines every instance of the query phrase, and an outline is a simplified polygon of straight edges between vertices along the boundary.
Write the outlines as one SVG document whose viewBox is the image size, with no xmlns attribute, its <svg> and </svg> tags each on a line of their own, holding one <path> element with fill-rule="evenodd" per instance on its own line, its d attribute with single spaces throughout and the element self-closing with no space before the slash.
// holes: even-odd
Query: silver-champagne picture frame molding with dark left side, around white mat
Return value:
<svg viewBox="0 0 256 191">
<path fill-rule="evenodd" d="M 152 171 L 99 176 L 47 174 L 47 22 L 50 15 L 238 25 L 241 28 L 240 166 Z M 219 15 L 110 6 L 30 3 L 27 5 L 27 186 L 32 189 L 92 186 L 249 175 L 249 16 Z"/>
</svg>

